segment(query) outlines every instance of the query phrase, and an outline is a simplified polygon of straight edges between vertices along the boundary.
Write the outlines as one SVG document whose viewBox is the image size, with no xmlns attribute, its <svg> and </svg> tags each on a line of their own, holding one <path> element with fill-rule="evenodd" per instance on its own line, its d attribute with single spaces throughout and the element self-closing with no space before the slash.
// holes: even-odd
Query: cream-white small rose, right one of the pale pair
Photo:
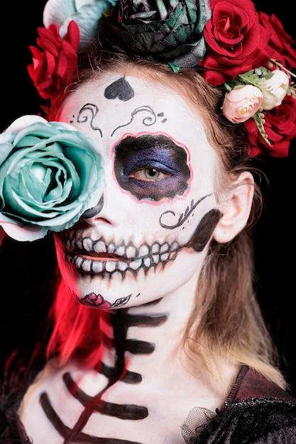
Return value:
<svg viewBox="0 0 296 444">
<path fill-rule="evenodd" d="M 273 109 L 282 103 L 290 82 L 287 74 L 281 70 L 275 70 L 272 74 L 268 79 L 263 77 L 258 82 L 258 87 L 263 94 L 261 106 L 266 110 Z"/>
</svg>

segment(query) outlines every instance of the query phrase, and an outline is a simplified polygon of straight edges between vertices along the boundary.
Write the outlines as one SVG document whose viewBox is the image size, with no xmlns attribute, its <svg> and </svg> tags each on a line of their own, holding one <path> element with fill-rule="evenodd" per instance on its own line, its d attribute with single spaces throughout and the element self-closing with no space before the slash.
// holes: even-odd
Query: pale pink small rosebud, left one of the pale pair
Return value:
<svg viewBox="0 0 296 444">
<path fill-rule="evenodd" d="M 222 112 L 229 121 L 242 123 L 252 117 L 261 107 L 263 94 L 252 85 L 231 89 L 224 98 Z"/>
</svg>

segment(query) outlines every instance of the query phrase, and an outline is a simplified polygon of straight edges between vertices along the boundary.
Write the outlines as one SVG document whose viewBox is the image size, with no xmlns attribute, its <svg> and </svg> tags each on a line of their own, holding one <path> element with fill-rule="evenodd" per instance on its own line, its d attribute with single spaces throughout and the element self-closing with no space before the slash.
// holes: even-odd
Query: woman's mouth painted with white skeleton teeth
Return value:
<svg viewBox="0 0 296 444">
<path fill-rule="evenodd" d="M 180 249 L 177 242 L 155 242 L 152 245 L 145 243 L 140 247 L 132 243 L 106 243 L 102 238 L 67 239 L 66 242 L 66 254 L 71 264 L 82 272 L 95 274 L 148 270 L 160 263 L 165 265 L 175 260 Z"/>
</svg>

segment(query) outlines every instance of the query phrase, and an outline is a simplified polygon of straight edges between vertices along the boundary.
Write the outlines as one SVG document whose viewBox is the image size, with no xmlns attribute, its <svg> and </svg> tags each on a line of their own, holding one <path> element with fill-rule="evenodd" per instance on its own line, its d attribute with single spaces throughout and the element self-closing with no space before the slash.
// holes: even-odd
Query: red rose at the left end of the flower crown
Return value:
<svg viewBox="0 0 296 444">
<path fill-rule="evenodd" d="M 35 88 L 43 99 L 53 99 L 70 84 L 77 67 L 77 49 L 80 31 L 75 21 L 71 21 L 67 34 L 62 39 L 56 25 L 38 28 L 40 47 L 30 46 L 33 63 L 28 65 L 28 73 Z"/>
</svg>

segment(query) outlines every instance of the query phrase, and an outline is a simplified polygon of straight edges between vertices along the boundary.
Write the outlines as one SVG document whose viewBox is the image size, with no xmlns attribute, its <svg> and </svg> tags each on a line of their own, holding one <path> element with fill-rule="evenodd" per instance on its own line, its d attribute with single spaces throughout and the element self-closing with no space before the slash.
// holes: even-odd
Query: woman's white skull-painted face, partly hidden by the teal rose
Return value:
<svg viewBox="0 0 296 444">
<path fill-rule="evenodd" d="M 194 295 L 219 218 L 216 155 L 197 112 L 172 89 L 108 74 L 77 89 L 60 120 L 97 140 L 106 177 L 92 217 L 55 234 L 75 297 L 117 308 Z"/>
</svg>

